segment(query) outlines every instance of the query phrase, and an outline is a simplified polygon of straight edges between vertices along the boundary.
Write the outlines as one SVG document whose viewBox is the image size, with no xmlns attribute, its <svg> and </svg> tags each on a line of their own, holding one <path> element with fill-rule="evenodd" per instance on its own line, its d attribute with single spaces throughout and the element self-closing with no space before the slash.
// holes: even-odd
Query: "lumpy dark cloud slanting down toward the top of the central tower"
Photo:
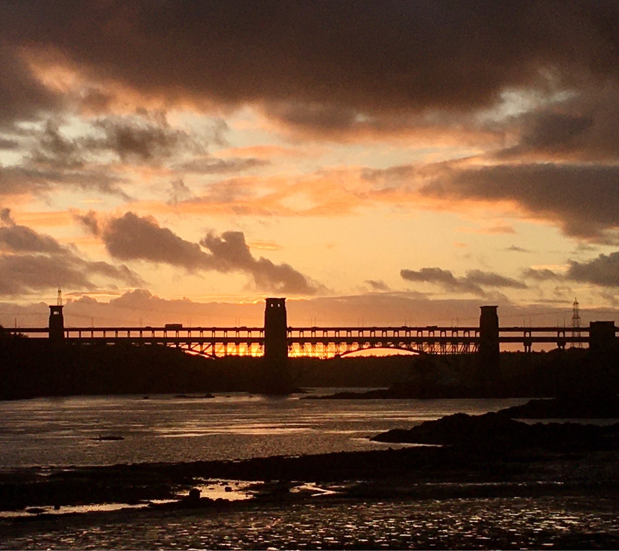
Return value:
<svg viewBox="0 0 619 551">
<path fill-rule="evenodd" d="M 206 253 L 154 219 L 127 212 L 106 225 L 102 238 L 108 252 L 121 260 L 166 263 L 189 271 L 241 271 L 251 276 L 258 288 L 282 293 L 313 295 L 320 288 L 288 264 L 255 258 L 242 232 L 209 233 L 200 242 L 210 251 Z"/>
</svg>

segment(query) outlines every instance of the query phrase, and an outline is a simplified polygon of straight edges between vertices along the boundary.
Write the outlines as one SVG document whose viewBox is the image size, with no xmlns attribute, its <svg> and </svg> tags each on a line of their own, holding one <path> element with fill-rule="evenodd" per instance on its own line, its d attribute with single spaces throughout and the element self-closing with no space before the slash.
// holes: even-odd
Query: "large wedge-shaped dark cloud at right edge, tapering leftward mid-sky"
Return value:
<svg viewBox="0 0 619 551">
<path fill-rule="evenodd" d="M 420 192 L 436 198 L 515 201 L 566 235 L 612 241 L 619 228 L 619 166 L 503 164 L 439 172 Z"/>
</svg>

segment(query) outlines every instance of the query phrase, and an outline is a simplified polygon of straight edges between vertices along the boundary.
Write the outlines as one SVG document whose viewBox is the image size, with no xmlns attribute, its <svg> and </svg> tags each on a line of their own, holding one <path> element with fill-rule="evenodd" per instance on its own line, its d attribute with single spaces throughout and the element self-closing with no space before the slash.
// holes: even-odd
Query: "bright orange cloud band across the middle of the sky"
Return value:
<svg viewBox="0 0 619 551">
<path fill-rule="evenodd" d="M 354 216 L 364 208 L 399 206 L 408 209 L 449 211 L 472 220 L 522 216 L 515 201 L 476 201 L 421 195 L 416 183 L 368 179 L 362 167 L 331 167 L 311 174 L 248 175 L 206 185 L 202 193 L 184 201 L 136 201 L 132 211 L 147 214 L 196 216 Z M 117 209 L 120 212 L 119 209 Z M 513 233 L 509 225 L 463 229 L 478 233 Z"/>
</svg>

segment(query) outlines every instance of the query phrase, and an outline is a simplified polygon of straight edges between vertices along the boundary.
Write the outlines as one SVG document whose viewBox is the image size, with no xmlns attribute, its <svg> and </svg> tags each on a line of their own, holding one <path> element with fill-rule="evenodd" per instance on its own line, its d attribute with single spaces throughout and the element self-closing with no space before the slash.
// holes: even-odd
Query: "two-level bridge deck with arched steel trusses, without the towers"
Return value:
<svg viewBox="0 0 619 551">
<path fill-rule="evenodd" d="M 619 328 L 617 328 L 619 330 Z M 47 327 L 4 329 L 9 334 L 47 337 Z M 500 327 L 500 343 L 531 350 L 534 343 L 558 347 L 589 342 L 589 327 Z M 90 345 L 165 345 L 209 356 L 262 355 L 264 327 L 65 327 L 64 341 Z M 372 348 L 420 353 L 473 353 L 479 327 L 288 327 L 291 355 L 337 356 Z"/>
</svg>

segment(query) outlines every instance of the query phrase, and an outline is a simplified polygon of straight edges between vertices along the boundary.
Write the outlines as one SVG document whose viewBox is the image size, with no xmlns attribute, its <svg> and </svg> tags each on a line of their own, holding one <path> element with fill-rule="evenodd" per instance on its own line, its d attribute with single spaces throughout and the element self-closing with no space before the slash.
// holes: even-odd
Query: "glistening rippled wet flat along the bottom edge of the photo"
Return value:
<svg viewBox="0 0 619 551">
<path fill-rule="evenodd" d="M 3 528 L 0 549 L 617 549 L 618 512 L 573 497 L 116 512 Z"/>
</svg>

